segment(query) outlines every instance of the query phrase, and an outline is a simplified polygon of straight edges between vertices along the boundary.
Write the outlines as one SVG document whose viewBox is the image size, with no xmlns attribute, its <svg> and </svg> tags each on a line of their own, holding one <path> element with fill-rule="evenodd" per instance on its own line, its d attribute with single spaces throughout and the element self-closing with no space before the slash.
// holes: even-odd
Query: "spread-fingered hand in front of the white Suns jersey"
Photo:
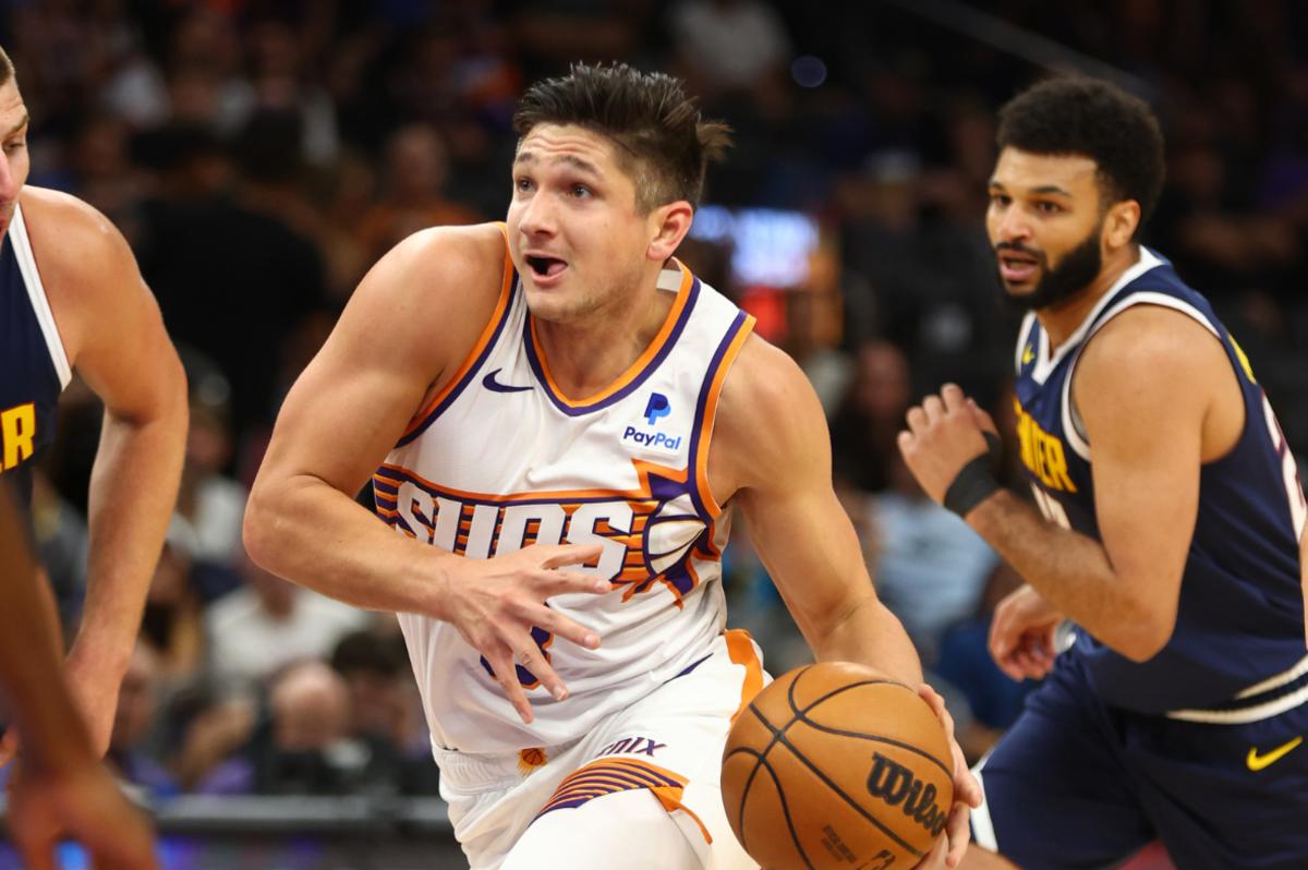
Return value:
<svg viewBox="0 0 1308 870">
<path fill-rule="evenodd" d="M 473 649 L 485 657 L 505 695 L 522 721 L 531 723 L 531 703 L 518 682 L 522 665 L 556 699 L 568 697 L 568 687 L 531 637 L 532 627 L 585 646 L 599 648 L 599 635 L 562 616 L 545 604 L 556 595 L 604 594 L 612 583 L 595 574 L 564 570 L 599 559 L 599 544 L 523 547 L 493 559 L 468 559 L 449 587 L 441 619 L 459 629 Z"/>
</svg>

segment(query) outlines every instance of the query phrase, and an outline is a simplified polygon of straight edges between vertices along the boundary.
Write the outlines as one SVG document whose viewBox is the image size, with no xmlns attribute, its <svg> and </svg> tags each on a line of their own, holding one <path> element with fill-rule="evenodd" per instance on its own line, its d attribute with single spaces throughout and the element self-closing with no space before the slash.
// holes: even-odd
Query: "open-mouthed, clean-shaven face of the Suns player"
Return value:
<svg viewBox="0 0 1308 870">
<path fill-rule="evenodd" d="M 650 221 L 615 148 L 572 124 L 539 124 L 518 147 L 509 252 L 542 319 L 576 322 L 621 304 L 641 279 Z"/>
</svg>

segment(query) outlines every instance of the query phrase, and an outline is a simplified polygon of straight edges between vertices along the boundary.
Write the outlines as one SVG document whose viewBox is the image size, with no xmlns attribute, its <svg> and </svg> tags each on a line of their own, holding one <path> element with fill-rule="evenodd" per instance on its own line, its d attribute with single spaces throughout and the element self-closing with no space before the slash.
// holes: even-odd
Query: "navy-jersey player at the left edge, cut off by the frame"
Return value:
<svg viewBox="0 0 1308 870">
<path fill-rule="evenodd" d="M 90 480 L 84 615 L 65 675 L 103 754 L 145 590 L 177 498 L 186 378 L 119 232 L 81 200 L 25 186 L 27 107 L 0 50 L 0 475 L 24 500 L 76 370 L 105 403 Z M 14 750 L 13 734 L 0 760 Z"/>
</svg>

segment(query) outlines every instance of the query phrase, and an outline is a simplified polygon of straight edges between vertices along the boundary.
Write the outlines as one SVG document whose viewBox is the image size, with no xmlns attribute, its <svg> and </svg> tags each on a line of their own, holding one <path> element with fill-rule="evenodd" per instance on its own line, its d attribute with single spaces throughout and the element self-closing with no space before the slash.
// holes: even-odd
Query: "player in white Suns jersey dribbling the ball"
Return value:
<svg viewBox="0 0 1308 870">
<path fill-rule="evenodd" d="M 536 84 L 514 123 L 508 224 L 417 233 L 364 279 L 286 398 L 246 544 L 399 612 L 472 867 L 753 866 L 718 790 L 765 680 L 723 632 L 732 515 L 819 659 L 921 686 L 918 658 L 804 375 L 672 258 L 726 128 L 625 65 Z M 369 478 L 385 522 L 353 500 Z M 956 769 L 929 866 L 965 849 Z"/>
</svg>

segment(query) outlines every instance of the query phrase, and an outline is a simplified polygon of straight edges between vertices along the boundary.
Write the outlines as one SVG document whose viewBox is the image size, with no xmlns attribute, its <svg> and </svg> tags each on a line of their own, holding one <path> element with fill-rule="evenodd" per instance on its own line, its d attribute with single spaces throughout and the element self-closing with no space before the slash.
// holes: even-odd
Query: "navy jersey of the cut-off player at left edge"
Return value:
<svg viewBox="0 0 1308 870">
<path fill-rule="evenodd" d="M 22 209 L 0 239 L 0 474 L 31 497 L 31 459 L 55 434 L 71 370 L 31 255 Z"/>
</svg>

